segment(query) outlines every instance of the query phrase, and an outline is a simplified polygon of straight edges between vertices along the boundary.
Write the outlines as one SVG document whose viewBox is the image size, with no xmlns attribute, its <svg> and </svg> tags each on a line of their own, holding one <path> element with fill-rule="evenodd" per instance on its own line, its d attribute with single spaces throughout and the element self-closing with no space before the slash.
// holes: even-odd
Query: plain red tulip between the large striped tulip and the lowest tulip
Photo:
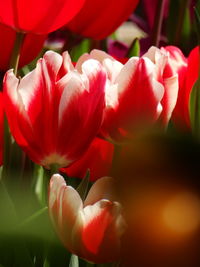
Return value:
<svg viewBox="0 0 200 267">
<path fill-rule="evenodd" d="M 83 178 L 89 169 L 90 180 L 95 181 L 109 174 L 113 150 L 113 144 L 103 139 L 95 138 L 86 153 L 78 161 L 70 167 L 62 169 L 62 171 L 70 177 Z"/>
</svg>

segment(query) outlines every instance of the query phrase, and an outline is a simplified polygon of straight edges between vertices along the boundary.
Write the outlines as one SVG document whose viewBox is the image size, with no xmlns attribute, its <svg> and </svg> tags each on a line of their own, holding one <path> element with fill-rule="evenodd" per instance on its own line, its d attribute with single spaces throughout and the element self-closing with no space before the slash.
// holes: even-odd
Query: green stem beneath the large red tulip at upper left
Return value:
<svg viewBox="0 0 200 267">
<path fill-rule="evenodd" d="M 17 75 L 18 65 L 19 65 L 19 58 L 20 58 L 20 51 L 23 44 L 25 34 L 22 32 L 16 33 L 16 39 L 10 59 L 10 68 L 14 69 L 14 74 Z"/>
</svg>

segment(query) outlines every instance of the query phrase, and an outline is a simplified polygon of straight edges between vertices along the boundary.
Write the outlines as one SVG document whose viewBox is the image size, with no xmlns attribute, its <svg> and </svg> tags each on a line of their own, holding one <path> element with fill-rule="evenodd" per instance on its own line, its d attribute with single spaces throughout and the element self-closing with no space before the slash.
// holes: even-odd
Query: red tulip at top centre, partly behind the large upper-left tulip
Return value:
<svg viewBox="0 0 200 267">
<path fill-rule="evenodd" d="M 73 32 L 96 40 L 114 32 L 136 8 L 139 0 L 86 0 L 80 12 L 67 24 Z"/>
</svg>

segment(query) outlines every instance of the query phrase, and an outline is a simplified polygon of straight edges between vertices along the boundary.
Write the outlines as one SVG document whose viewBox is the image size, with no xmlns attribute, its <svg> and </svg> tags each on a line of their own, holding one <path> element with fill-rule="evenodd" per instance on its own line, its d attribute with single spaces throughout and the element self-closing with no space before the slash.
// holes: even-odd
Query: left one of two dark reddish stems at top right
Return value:
<svg viewBox="0 0 200 267">
<path fill-rule="evenodd" d="M 160 33 L 163 22 L 163 13 L 164 13 L 164 5 L 165 0 L 158 1 L 158 5 L 156 8 L 156 16 L 153 25 L 153 33 L 152 33 L 152 45 L 158 46 L 160 42 Z"/>
</svg>

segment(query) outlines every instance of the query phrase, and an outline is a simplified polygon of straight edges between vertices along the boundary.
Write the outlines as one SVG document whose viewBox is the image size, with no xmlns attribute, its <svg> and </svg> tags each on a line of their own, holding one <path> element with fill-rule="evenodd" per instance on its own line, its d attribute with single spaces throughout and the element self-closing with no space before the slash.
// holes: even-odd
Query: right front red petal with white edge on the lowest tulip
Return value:
<svg viewBox="0 0 200 267">
<path fill-rule="evenodd" d="M 96 263 L 117 260 L 120 257 L 120 236 L 125 229 L 124 221 L 118 220 L 120 216 L 121 206 L 117 202 L 100 200 L 86 206 L 81 214 L 84 221 L 81 233 L 76 235 L 76 225 L 72 232 L 79 255 Z"/>
</svg>

